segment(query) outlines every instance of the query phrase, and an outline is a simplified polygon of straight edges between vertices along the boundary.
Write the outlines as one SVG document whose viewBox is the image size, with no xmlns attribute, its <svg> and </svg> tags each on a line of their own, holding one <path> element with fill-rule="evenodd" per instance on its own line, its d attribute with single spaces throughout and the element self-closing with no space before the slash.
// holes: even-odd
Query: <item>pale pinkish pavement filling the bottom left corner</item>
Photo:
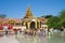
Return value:
<svg viewBox="0 0 65 43">
<path fill-rule="evenodd" d="M 20 43 L 12 35 L 3 35 L 0 38 L 0 43 Z"/>
</svg>

